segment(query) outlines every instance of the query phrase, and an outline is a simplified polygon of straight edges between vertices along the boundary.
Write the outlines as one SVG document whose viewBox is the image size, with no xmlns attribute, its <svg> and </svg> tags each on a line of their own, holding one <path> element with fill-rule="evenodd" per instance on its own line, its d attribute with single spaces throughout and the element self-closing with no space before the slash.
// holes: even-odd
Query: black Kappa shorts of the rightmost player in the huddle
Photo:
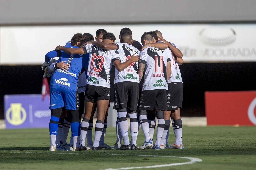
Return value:
<svg viewBox="0 0 256 170">
<path fill-rule="evenodd" d="M 178 110 L 182 107 L 183 100 L 183 83 L 168 83 L 167 94 L 167 110 Z"/>
</svg>

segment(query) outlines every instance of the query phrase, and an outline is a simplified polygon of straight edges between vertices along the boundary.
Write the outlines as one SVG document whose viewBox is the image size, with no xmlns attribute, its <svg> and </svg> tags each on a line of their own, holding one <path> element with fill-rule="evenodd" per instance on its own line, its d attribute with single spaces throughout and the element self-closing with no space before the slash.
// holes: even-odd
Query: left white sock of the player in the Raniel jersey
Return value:
<svg viewBox="0 0 256 170">
<path fill-rule="evenodd" d="M 130 144 L 129 136 L 128 136 L 129 127 L 128 127 L 128 121 L 126 119 L 127 111 L 120 111 L 120 112 L 117 112 L 117 114 L 119 117 L 118 125 L 121 131 L 122 137 L 124 139 L 124 145 L 129 145 Z"/>
</svg>

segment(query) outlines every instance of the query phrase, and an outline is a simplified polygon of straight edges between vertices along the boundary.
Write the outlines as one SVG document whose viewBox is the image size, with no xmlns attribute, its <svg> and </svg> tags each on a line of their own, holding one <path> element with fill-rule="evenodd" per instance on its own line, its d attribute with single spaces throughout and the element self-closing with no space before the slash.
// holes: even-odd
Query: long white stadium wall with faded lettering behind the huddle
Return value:
<svg viewBox="0 0 256 170">
<path fill-rule="evenodd" d="M 47 52 L 64 46 L 77 32 L 95 36 L 96 30 L 103 28 L 119 41 L 123 27 L 129 27 L 137 41 L 145 31 L 161 31 L 164 39 L 181 50 L 184 62 L 256 61 L 256 24 L 140 24 L 2 26 L 0 64 L 41 64 Z"/>
</svg>

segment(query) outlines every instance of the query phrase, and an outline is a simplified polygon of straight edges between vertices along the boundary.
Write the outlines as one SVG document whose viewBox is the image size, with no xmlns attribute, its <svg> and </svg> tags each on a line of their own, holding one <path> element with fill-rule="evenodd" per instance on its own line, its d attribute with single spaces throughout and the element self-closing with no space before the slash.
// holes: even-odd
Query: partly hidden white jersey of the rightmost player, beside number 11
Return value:
<svg viewBox="0 0 256 170">
<path fill-rule="evenodd" d="M 173 43 L 171 43 L 171 44 L 174 47 L 178 48 L 175 44 L 173 44 Z M 182 82 L 180 67 L 178 65 L 178 62 L 175 61 L 174 54 L 172 52 L 171 52 L 171 54 L 172 54 L 172 58 L 171 58 L 171 76 L 168 80 L 168 83 Z"/>
</svg>

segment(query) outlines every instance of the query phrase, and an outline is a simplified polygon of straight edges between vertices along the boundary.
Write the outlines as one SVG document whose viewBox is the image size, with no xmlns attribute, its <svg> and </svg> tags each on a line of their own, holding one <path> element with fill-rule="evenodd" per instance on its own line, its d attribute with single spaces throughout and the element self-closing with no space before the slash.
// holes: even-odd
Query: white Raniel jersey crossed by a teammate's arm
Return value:
<svg viewBox="0 0 256 170">
<path fill-rule="evenodd" d="M 133 54 L 139 55 L 140 51 L 127 44 L 127 43 L 113 43 L 117 45 L 117 50 L 119 52 L 119 57 L 122 62 L 125 62 L 131 58 Z M 116 68 L 116 75 L 114 83 L 132 81 L 139 83 L 139 74 L 138 74 L 138 62 L 132 62 L 127 68 L 123 71 L 118 71 Z"/>
</svg>

